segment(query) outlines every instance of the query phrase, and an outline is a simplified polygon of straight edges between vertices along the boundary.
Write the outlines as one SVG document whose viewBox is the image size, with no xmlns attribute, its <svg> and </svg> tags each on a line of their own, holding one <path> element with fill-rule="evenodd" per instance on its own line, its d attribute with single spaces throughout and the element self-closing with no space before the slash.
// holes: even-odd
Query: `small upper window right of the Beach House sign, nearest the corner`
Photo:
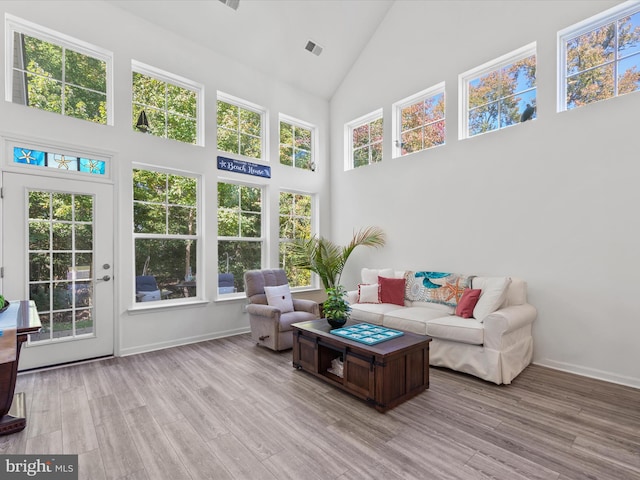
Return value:
<svg viewBox="0 0 640 480">
<path fill-rule="evenodd" d="M 280 114 L 280 163 L 315 171 L 316 136 L 313 125 Z"/>
</svg>

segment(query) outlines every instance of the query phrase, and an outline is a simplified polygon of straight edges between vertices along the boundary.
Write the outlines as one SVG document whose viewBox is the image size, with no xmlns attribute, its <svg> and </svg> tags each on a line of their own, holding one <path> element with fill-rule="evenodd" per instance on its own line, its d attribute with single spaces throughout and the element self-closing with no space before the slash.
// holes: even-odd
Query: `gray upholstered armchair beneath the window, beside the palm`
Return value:
<svg viewBox="0 0 640 480">
<path fill-rule="evenodd" d="M 267 303 L 265 286 L 289 283 L 284 270 L 249 270 L 244 274 L 244 291 L 249 300 L 247 312 L 251 324 L 251 338 L 272 350 L 286 350 L 293 346 L 291 324 L 320 318 L 320 307 L 312 300 L 293 299 L 293 312 L 282 313 Z"/>
</svg>

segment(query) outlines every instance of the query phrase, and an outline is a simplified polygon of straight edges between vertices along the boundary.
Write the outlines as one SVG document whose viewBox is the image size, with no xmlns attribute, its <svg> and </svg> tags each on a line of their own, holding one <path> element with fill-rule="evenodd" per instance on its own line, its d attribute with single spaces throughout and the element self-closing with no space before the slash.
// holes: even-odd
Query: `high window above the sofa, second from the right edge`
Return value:
<svg viewBox="0 0 640 480">
<path fill-rule="evenodd" d="M 536 118 L 536 43 L 458 76 L 460 139 Z"/>
</svg>

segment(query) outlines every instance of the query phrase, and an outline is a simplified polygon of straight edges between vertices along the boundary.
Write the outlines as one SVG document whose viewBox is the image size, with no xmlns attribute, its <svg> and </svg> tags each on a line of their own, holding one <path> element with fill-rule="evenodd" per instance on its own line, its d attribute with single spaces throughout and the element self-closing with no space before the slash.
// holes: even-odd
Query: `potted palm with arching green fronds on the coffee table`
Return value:
<svg viewBox="0 0 640 480">
<path fill-rule="evenodd" d="M 340 285 L 340 277 L 349 256 L 356 247 L 378 248 L 384 246 L 385 242 L 386 237 L 381 228 L 366 227 L 354 233 L 351 241 L 345 246 L 318 236 L 293 244 L 294 265 L 311 270 L 320 277 L 327 293 L 327 300 L 322 304 L 323 315 L 331 326 L 344 325 L 351 311 L 345 298 L 346 291 Z"/>
</svg>

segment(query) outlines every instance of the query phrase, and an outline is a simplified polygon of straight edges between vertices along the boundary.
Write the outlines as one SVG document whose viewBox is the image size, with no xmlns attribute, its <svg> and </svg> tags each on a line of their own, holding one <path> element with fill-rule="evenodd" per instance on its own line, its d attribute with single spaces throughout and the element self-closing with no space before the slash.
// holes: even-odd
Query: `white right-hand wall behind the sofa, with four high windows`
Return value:
<svg viewBox="0 0 640 480">
<path fill-rule="evenodd" d="M 401 1 L 331 100 L 332 231 L 379 225 L 362 266 L 511 275 L 534 362 L 640 387 L 640 93 L 556 112 L 558 30 L 615 1 Z M 458 140 L 458 74 L 537 41 L 538 119 Z M 446 81 L 447 143 L 391 158 L 391 104 Z M 344 171 L 344 124 L 384 108 L 380 164 Z"/>
</svg>

